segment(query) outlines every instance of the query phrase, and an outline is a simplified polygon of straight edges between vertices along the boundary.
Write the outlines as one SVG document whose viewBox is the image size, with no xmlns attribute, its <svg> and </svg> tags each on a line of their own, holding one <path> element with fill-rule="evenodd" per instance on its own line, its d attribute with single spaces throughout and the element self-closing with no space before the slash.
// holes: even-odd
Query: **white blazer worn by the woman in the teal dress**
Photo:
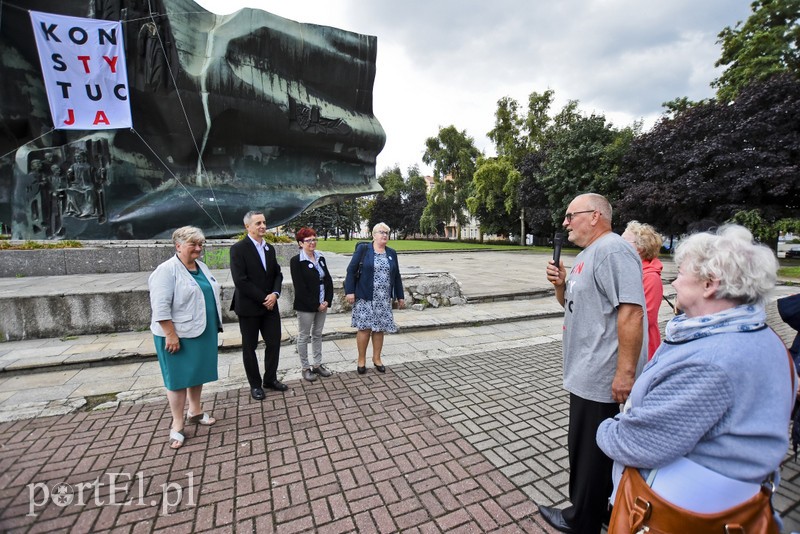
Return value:
<svg viewBox="0 0 800 534">
<path fill-rule="evenodd" d="M 197 260 L 197 266 L 206 275 L 214 290 L 217 304 L 217 320 L 222 327 L 222 305 L 220 304 L 220 285 L 206 264 Z M 203 290 L 195 282 L 186 266 L 175 255 L 156 267 L 147 279 L 150 289 L 151 321 L 150 331 L 166 337 L 158 321 L 172 320 L 178 337 L 198 337 L 206 329 L 206 301 Z"/>
</svg>

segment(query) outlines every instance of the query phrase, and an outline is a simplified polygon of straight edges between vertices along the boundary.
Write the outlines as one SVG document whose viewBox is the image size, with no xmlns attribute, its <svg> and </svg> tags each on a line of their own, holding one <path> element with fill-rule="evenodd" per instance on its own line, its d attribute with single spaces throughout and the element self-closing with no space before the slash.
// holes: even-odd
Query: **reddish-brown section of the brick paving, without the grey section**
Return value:
<svg viewBox="0 0 800 534">
<path fill-rule="evenodd" d="M 177 453 L 164 403 L 0 424 L 0 531 L 546 532 L 402 367 L 295 381 L 263 403 L 218 393 L 217 424 L 187 427 Z M 69 484 L 72 502 L 37 483 Z"/>
</svg>

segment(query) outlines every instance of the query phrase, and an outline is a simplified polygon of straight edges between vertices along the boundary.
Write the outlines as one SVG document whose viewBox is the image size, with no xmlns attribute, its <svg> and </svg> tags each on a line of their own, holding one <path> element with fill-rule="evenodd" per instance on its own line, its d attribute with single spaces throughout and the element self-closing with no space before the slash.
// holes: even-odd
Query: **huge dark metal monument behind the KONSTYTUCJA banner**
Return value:
<svg viewBox="0 0 800 534">
<path fill-rule="evenodd" d="M 28 12 L 0 4 L 0 222 L 13 238 L 150 239 L 185 224 L 228 236 L 251 209 L 279 225 L 380 191 L 375 37 L 191 0 L 24 3 L 123 22 L 133 129 L 52 130 Z"/>
</svg>

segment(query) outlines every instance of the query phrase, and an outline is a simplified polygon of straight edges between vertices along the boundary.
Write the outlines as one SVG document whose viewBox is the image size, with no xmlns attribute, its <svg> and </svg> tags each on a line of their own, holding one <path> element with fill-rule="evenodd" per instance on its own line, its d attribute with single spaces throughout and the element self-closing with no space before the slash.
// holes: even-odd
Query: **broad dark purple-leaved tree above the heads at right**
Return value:
<svg viewBox="0 0 800 534">
<path fill-rule="evenodd" d="M 800 80 L 785 73 L 664 118 L 623 162 L 626 219 L 680 234 L 703 219 L 757 210 L 766 224 L 800 213 Z"/>
</svg>

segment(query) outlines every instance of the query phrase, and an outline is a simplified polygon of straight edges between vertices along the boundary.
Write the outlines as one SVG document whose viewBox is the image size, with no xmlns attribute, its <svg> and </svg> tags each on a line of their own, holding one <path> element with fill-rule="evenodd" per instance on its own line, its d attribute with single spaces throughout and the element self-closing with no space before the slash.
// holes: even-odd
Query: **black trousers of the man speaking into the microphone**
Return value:
<svg viewBox="0 0 800 534">
<path fill-rule="evenodd" d="M 564 519 L 581 534 L 598 534 L 608 518 L 613 461 L 597 446 L 597 427 L 619 413 L 619 404 L 569 395 L 569 500 Z"/>
</svg>

